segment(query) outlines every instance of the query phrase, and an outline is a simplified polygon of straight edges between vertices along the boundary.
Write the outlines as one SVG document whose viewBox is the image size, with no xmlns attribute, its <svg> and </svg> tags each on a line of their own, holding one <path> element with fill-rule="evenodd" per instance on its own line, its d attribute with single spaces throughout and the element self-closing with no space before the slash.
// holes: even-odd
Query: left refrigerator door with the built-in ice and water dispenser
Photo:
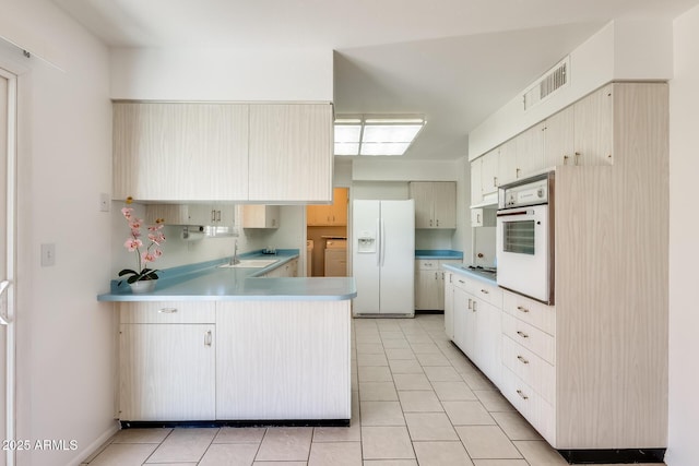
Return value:
<svg viewBox="0 0 699 466">
<path fill-rule="evenodd" d="M 379 313 L 379 201 L 357 200 L 352 204 L 352 268 L 357 285 L 355 314 Z"/>
</svg>

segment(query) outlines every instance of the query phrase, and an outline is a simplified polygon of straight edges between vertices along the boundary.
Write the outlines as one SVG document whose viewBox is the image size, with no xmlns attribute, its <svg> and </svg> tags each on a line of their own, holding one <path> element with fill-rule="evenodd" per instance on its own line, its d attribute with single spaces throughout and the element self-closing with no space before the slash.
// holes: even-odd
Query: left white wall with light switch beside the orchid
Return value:
<svg viewBox="0 0 699 466">
<path fill-rule="evenodd" d="M 17 439 L 78 442 L 78 451 L 21 452 L 19 464 L 76 464 L 117 427 L 115 314 L 96 301 L 111 265 L 110 215 L 98 211 L 111 189 L 108 52 L 45 0 L 3 1 L 0 36 L 63 57 L 60 71 L 0 50 L 0 64 L 21 73 Z M 56 265 L 42 267 L 49 242 Z"/>
</svg>

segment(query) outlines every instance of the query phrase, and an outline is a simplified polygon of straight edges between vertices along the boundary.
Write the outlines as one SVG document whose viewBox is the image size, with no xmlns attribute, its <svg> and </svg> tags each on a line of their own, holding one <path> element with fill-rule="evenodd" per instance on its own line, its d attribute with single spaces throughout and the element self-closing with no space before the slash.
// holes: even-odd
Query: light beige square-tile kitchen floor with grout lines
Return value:
<svg viewBox="0 0 699 466">
<path fill-rule="evenodd" d="M 90 466 L 567 463 L 449 342 L 443 315 L 355 319 L 350 428 L 130 429 Z"/>
</svg>

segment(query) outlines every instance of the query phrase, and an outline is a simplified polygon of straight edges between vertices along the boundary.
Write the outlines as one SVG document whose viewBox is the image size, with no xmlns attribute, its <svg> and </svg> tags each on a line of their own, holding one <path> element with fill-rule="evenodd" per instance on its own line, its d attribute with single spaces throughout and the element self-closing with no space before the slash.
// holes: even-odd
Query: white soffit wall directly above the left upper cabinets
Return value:
<svg viewBox="0 0 699 466">
<path fill-rule="evenodd" d="M 111 51 L 111 97 L 145 100 L 333 100 L 329 49 L 256 47 Z"/>
</svg>

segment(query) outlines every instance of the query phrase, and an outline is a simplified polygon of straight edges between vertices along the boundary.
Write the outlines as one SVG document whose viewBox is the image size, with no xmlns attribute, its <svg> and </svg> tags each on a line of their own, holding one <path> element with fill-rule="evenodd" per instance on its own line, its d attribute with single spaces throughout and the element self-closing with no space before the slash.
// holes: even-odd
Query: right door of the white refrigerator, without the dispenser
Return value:
<svg viewBox="0 0 699 466">
<path fill-rule="evenodd" d="M 380 313 L 414 314 L 414 201 L 381 201 L 380 224 Z"/>
</svg>

